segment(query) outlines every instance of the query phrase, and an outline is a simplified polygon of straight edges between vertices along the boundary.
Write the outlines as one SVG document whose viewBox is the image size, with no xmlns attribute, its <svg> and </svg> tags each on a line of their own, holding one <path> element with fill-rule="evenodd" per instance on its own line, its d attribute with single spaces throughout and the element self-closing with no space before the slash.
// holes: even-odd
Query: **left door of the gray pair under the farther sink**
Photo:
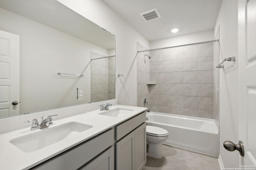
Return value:
<svg viewBox="0 0 256 170">
<path fill-rule="evenodd" d="M 116 143 L 116 170 L 134 170 L 134 131 Z"/>
</svg>

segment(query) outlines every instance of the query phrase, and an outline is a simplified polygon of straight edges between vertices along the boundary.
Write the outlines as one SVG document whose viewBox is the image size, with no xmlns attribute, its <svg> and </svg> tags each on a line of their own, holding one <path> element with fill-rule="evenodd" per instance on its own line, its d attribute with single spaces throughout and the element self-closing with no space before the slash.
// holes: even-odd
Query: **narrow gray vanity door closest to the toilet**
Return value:
<svg viewBox="0 0 256 170">
<path fill-rule="evenodd" d="M 142 170 L 147 161 L 146 151 L 146 123 L 134 131 L 135 135 L 135 170 Z"/>
</svg>

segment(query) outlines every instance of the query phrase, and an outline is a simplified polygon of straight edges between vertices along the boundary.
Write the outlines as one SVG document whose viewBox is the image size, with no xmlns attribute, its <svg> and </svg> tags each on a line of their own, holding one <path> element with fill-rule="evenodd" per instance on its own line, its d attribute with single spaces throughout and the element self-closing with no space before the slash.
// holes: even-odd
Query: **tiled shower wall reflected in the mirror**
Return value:
<svg viewBox="0 0 256 170">
<path fill-rule="evenodd" d="M 91 52 L 92 59 L 100 57 L 106 56 Z M 115 57 L 91 61 L 91 102 L 115 98 L 115 68 Z"/>
</svg>

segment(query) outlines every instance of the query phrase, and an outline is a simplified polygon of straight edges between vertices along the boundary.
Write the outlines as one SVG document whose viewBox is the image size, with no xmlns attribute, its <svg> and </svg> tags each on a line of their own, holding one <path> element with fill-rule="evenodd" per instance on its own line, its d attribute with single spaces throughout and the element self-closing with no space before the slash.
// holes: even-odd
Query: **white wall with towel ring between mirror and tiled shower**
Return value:
<svg viewBox="0 0 256 170">
<path fill-rule="evenodd" d="M 116 35 L 116 74 L 123 74 L 124 84 L 116 81 L 118 104 L 137 105 L 137 42 L 149 48 L 149 42 L 101 0 L 58 0 L 88 20 Z"/>
</svg>

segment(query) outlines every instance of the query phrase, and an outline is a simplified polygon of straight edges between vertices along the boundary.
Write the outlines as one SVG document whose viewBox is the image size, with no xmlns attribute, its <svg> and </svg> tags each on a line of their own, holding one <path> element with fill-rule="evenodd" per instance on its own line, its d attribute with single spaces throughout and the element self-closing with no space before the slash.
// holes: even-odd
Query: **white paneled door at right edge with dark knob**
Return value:
<svg viewBox="0 0 256 170">
<path fill-rule="evenodd" d="M 256 165 L 256 0 L 238 0 L 240 165 Z"/>
</svg>

